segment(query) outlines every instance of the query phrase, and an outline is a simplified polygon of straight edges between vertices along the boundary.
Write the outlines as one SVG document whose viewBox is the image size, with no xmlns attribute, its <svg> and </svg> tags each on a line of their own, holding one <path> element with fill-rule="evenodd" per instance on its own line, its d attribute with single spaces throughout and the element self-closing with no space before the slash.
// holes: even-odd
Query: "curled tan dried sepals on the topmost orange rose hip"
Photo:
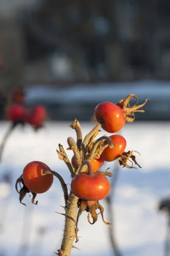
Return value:
<svg viewBox="0 0 170 256">
<path fill-rule="evenodd" d="M 130 100 L 134 98 L 136 99 L 136 103 L 130 107 Z M 117 106 L 119 106 L 119 108 L 122 109 L 122 112 L 124 113 L 125 115 L 125 121 L 126 122 L 133 122 L 134 119 L 135 119 L 135 114 L 134 112 L 142 112 L 144 113 L 145 111 L 140 109 L 139 108 L 142 108 L 147 101 L 150 101 L 150 99 L 146 99 L 145 102 L 141 105 L 138 105 L 138 98 L 136 97 L 136 95 L 134 94 L 129 94 L 126 99 L 122 99 L 120 100 L 118 103 L 117 103 Z"/>
</svg>

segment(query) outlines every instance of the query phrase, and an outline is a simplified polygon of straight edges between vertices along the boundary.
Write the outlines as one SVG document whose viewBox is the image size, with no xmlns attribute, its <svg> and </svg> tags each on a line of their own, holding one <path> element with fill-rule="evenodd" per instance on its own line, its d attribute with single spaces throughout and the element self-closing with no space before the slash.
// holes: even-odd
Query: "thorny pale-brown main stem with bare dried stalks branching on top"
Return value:
<svg viewBox="0 0 170 256">
<path fill-rule="evenodd" d="M 78 122 L 75 120 L 75 122 Z M 102 138 L 96 140 L 96 142 L 94 143 L 93 147 L 92 147 L 92 153 L 89 154 L 88 159 L 85 160 L 84 162 L 82 162 L 82 153 L 85 151 L 86 145 L 89 141 L 89 139 L 91 137 L 94 136 L 94 134 L 99 130 L 99 128 L 101 127 L 102 123 L 98 123 L 94 129 L 92 129 L 92 131 L 85 137 L 85 139 L 83 140 L 82 146 L 80 147 L 81 144 L 81 138 L 82 138 L 82 134 L 81 134 L 81 130 L 80 127 L 78 125 L 77 127 L 77 123 L 74 126 L 74 122 L 71 125 L 71 128 L 74 128 L 75 131 L 77 132 L 77 143 L 74 141 L 73 138 L 69 137 L 68 138 L 68 145 L 69 145 L 69 150 L 73 150 L 74 152 L 74 157 L 75 157 L 75 163 L 77 164 L 76 169 L 74 171 L 73 166 L 71 165 L 70 161 L 68 160 L 67 154 L 65 153 L 63 147 L 59 144 L 59 149 L 60 152 L 58 152 L 59 154 L 59 158 L 64 160 L 65 163 L 67 164 L 70 172 L 74 175 L 71 175 L 72 178 L 78 173 L 78 172 L 83 172 L 85 171 L 85 169 L 88 166 L 89 169 L 89 174 L 92 173 L 92 166 L 90 161 L 93 159 L 94 154 L 96 152 L 97 146 L 99 146 L 99 143 L 101 143 L 101 141 L 107 141 L 111 147 L 114 147 L 114 143 L 112 142 L 112 140 L 109 137 L 103 136 Z M 82 153 L 80 153 L 82 152 Z M 71 166 L 71 167 L 70 167 Z M 73 172 L 74 171 L 74 172 Z M 51 174 L 53 174 L 53 171 L 50 171 Z M 49 173 L 49 172 L 48 172 Z M 65 193 L 65 183 L 64 184 L 64 188 L 63 191 Z M 65 199 L 67 198 L 68 194 L 65 196 Z M 73 195 L 72 192 L 70 192 L 68 200 L 65 200 L 65 226 L 64 226 L 64 234 L 63 234 L 63 238 L 62 238 L 62 245 L 61 248 L 58 250 L 58 255 L 59 256 L 70 256 L 71 253 L 71 248 L 73 248 L 73 241 L 74 239 L 78 239 L 75 233 L 75 225 L 76 225 L 76 217 L 77 217 L 77 201 L 78 198 L 76 196 Z M 78 230 L 77 230 L 78 231 Z M 76 240 L 77 241 L 77 240 Z"/>
</svg>

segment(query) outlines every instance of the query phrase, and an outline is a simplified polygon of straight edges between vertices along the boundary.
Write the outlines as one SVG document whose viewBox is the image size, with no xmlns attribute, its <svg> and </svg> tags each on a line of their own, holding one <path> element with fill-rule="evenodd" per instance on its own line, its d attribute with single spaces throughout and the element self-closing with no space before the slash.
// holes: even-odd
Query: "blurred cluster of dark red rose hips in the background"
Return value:
<svg viewBox="0 0 170 256">
<path fill-rule="evenodd" d="M 28 123 L 37 130 L 43 126 L 47 117 L 46 109 L 43 106 L 26 108 L 25 99 L 23 88 L 11 92 L 6 105 L 6 120 L 11 121 L 14 126 Z"/>
</svg>

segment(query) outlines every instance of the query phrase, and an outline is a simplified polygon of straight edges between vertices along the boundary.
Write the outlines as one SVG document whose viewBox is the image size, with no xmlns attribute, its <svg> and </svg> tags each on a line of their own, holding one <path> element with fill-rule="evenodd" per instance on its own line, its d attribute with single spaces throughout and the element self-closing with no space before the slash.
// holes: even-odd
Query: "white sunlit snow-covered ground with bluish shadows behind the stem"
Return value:
<svg viewBox="0 0 170 256">
<path fill-rule="evenodd" d="M 45 194 L 37 195 L 37 206 L 31 204 L 27 195 L 20 204 L 14 184 L 22 174 L 23 167 L 32 160 L 40 160 L 51 169 L 59 172 L 65 182 L 71 182 L 65 163 L 58 159 L 56 148 L 61 143 L 67 148 L 67 137 L 76 138 L 75 131 L 68 127 L 69 122 L 49 122 L 46 128 L 35 133 L 31 127 L 17 128 L 9 138 L 0 163 L 0 175 L 11 171 L 13 183 L 8 200 L 0 199 L 0 222 L 3 220 L 3 232 L 0 233 L 0 255 L 23 256 L 18 251 L 20 243 L 28 242 L 29 256 L 53 255 L 59 249 L 62 239 L 64 216 L 55 212 L 63 212 L 62 189 L 57 179 Z M 81 123 L 85 136 L 93 123 Z M 0 123 L 0 141 L 8 124 Z M 127 140 L 127 150 L 136 150 L 137 161 L 142 169 L 125 169 L 120 167 L 119 180 L 116 185 L 114 213 L 115 233 L 119 247 L 125 256 L 159 256 L 163 253 L 166 219 L 157 210 L 158 201 L 170 194 L 170 123 L 168 122 L 134 122 L 126 124 L 119 133 Z M 105 131 L 100 132 L 101 136 Z M 108 134 L 111 135 L 111 134 Z M 72 152 L 68 151 L 72 157 Z M 113 163 L 105 164 L 104 168 Z M 2 193 L 2 192 L 1 192 Z M 2 194 L 0 194 L 2 197 Z M 108 219 L 107 205 L 105 220 Z M 5 208 L 8 205 L 8 208 Z M 7 209 L 7 212 L 3 212 Z M 23 232 L 23 223 L 25 227 Z M 37 230 L 46 228 L 45 236 L 37 237 Z M 27 232 L 29 230 L 30 232 Z M 87 212 L 83 212 L 79 220 L 79 243 L 74 244 L 72 255 L 110 256 L 113 255 L 106 226 L 99 215 L 94 225 L 88 224 Z M 43 240 L 43 244 L 42 244 Z"/>
</svg>

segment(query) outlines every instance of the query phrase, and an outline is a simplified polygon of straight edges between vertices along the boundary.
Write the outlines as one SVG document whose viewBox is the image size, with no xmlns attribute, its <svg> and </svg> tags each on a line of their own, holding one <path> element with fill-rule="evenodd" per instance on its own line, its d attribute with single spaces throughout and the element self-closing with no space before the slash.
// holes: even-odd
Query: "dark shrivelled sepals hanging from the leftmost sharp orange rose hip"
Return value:
<svg viewBox="0 0 170 256">
<path fill-rule="evenodd" d="M 21 188 L 20 191 L 18 191 L 18 184 L 20 185 L 20 188 Z M 23 187 L 21 187 L 21 185 L 22 185 Z M 22 201 L 23 201 L 23 198 L 25 198 L 26 194 L 27 194 L 27 193 L 30 193 L 31 191 L 30 191 L 29 189 L 27 189 L 26 185 L 24 184 L 24 182 L 23 182 L 23 175 L 21 175 L 21 176 L 16 180 L 15 189 L 16 189 L 17 192 L 20 194 L 20 196 L 19 196 L 20 203 L 26 206 L 26 204 L 25 204 L 25 203 L 22 203 Z M 36 202 L 34 203 L 37 194 L 36 194 L 36 193 L 33 193 L 33 192 L 31 192 L 31 194 L 32 194 L 31 203 L 37 205 L 38 201 L 36 201 Z"/>
</svg>

